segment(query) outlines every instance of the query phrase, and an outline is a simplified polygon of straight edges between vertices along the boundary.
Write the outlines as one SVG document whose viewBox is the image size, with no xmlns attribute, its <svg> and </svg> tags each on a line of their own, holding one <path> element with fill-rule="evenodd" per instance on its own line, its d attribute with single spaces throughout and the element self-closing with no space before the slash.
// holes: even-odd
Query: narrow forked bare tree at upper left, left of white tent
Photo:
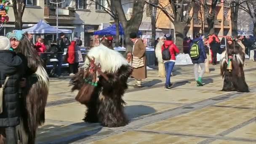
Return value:
<svg viewBox="0 0 256 144">
<path fill-rule="evenodd" d="M 22 16 L 26 7 L 27 0 L 12 0 L 13 12 L 15 16 L 15 29 L 22 29 Z"/>
</svg>

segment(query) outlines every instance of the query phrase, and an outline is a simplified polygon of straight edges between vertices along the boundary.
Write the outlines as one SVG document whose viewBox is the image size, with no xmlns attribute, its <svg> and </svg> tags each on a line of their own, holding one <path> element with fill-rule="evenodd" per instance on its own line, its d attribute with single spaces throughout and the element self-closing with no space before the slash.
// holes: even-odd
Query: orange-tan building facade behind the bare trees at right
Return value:
<svg viewBox="0 0 256 144">
<path fill-rule="evenodd" d="M 208 11 L 211 11 L 211 1 L 212 0 L 207 0 L 207 5 L 204 7 L 201 4 L 195 4 L 189 13 L 189 16 L 192 17 L 192 20 L 184 29 L 184 35 L 193 37 L 197 32 L 208 34 L 208 23 L 206 19 L 208 16 L 210 16 L 207 13 Z M 164 3 L 166 5 L 167 11 L 171 13 L 171 8 L 168 7 L 168 0 L 160 0 L 160 3 Z M 188 7 L 189 4 L 184 6 L 184 10 L 187 10 Z M 230 8 L 228 5 L 224 5 L 224 3 L 221 2 L 218 3 L 214 14 L 214 33 L 219 36 L 231 35 L 232 27 L 230 19 Z M 157 11 L 157 17 L 157 27 L 162 29 L 165 33 L 171 32 L 171 34 L 173 34 L 175 28 L 168 17 L 160 10 Z"/>
</svg>

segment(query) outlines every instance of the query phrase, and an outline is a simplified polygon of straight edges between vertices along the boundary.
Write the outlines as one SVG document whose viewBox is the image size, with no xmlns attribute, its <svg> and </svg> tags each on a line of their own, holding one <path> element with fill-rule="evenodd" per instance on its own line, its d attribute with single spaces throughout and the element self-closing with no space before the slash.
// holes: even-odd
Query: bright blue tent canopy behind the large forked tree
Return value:
<svg viewBox="0 0 256 144">
<path fill-rule="evenodd" d="M 124 35 L 124 34 L 125 34 L 125 32 L 123 30 L 123 27 L 119 23 L 119 35 Z M 115 26 L 115 24 L 112 24 L 112 26 L 110 26 L 110 27 L 93 32 L 93 35 L 116 35 L 116 26 Z M 138 35 L 141 35 L 140 31 L 139 31 Z"/>
</svg>

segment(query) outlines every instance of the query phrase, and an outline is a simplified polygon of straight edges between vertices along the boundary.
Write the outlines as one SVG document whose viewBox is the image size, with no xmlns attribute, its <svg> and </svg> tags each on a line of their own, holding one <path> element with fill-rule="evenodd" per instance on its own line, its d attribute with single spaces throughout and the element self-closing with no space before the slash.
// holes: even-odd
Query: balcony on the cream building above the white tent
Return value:
<svg viewBox="0 0 256 144">
<path fill-rule="evenodd" d="M 75 8 L 59 8 L 58 19 L 75 20 Z M 56 8 L 45 6 L 44 19 L 56 19 Z"/>
</svg>

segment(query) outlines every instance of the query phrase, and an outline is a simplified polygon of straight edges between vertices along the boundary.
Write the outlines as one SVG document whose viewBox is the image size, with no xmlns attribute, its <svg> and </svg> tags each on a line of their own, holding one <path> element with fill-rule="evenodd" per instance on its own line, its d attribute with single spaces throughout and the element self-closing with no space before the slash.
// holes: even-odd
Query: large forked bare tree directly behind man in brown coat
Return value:
<svg viewBox="0 0 256 144">
<path fill-rule="evenodd" d="M 126 53 L 132 51 L 132 43 L 129 35 L 131 32 L 138 32 L 141 25 L 145 0 L 133 0 L 133 12 L 130 20 L 127 20 L 123 11 L 121 0 L 114 0 L 115 10 L 125 31 Z"/>
</svg>

